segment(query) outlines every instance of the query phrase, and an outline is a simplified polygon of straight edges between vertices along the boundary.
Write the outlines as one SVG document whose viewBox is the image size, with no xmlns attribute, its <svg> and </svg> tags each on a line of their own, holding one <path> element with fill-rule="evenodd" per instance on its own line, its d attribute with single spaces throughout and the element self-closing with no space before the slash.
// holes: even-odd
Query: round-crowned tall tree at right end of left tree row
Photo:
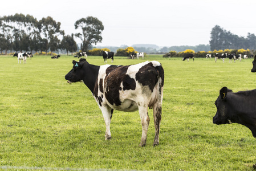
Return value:
<svg viewBox="0 0 256 171">
<path fill-rule="evenodd" d="M 82 34 L 76 33 L 75 36 L 82 40 L 81 50 L 86 51 L 92 44 L 100 43 L 102 40 L 101 32 L 104 26 L 95 17 L 81 18 L 75 22 L 75 29 L 81 28 Z"/>
</svg>

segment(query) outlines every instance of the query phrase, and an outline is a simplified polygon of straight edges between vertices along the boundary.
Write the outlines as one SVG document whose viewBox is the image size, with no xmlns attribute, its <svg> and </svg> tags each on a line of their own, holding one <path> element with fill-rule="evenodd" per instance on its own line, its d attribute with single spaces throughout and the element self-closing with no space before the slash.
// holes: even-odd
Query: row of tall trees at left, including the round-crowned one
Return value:
<svg viewBox="0 0 256 171">
<path fill-rule="evenodd" d="M 104 26 L 95 17 L 81 18 L 75 22 L 75 29 L 82 31 L 66 35 L 60 29 L 60 22 L 53 18 L 39 21 L 32 15 L 15 14 L 0 17 L 0 51 L 45 51 L 58 49 L 75 52 L 78 46 L 74 36 L 82 40 L 81 50 L 86 51 L 92 44 L 100 43 Z"/>
</svg>

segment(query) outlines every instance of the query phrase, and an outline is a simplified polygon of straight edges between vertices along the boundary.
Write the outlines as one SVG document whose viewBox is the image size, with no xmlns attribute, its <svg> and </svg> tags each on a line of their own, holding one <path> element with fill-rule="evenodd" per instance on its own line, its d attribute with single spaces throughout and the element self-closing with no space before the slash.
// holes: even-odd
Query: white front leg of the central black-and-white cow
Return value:
<svg viewBox="0 0 256 171">
<path fill-rule="evenodd" d="M 107 107 L 101 107 L 100 109 L 103 114 L 105 125 L 106 125 L 105 140 L 110 140 L 111 139 L 110 123 L 111 123 L 113 109 L 107 108 Z"/>
</svg>

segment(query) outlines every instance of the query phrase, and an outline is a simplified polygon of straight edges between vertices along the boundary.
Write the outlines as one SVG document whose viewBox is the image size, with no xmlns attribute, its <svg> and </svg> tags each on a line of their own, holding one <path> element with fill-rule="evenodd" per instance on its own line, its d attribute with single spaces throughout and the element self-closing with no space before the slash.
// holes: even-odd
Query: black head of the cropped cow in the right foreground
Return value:
<svg viewBox="0 0 256 171">
<path fill-rule="evenodd" d="M 214 124 L 219 125 L 231 123 L 229 116 L 232 109 L 229 106 L 229 92 L 232 92 L 232 90 L 227 89 L 226 87 L 222 87 L 220 90 L 220 96 L 218 96 L 217 100 L 215 101 L 217 112 L 216 115 L 213 117 Z"/>
</svg>

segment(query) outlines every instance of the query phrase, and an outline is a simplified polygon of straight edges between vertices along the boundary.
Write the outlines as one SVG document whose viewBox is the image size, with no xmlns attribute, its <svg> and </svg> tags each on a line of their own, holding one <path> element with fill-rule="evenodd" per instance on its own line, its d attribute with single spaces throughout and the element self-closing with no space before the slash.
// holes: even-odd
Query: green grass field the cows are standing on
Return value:
<svg viewBox="0 0 256 171">
<path fill-rule="evenodd" d="M 165 70 L 160 145 L 149 110 L 147 146 L 139 147 L 139 112 L 114 111 L 110 141 L 92 93 L 83 83 L 68 84 L 72 56 L 35 56 L 27 64 L 0 57 L 0 167 L 132 170 L 253 170 L 256 139 L 239 124 L 215 125 L 214 101 L 222 87 L 254 89 L 253 59 L 225 63 L 214 59 L 158 60 Z M 142 59 L 115 57 L 113 64 Z M 102 65 L 100 56 L 88 56 Z M 111 64 L 108 60 L 108 64 Z M 15 169 L 21 167 L 21 169 Z M 1 169 L 0 168 L 0 169 Z M 22 169 L 23 168 L 23 169 Z M 61 170 L 61 169 L 60 169 Z"/>
</svg>

